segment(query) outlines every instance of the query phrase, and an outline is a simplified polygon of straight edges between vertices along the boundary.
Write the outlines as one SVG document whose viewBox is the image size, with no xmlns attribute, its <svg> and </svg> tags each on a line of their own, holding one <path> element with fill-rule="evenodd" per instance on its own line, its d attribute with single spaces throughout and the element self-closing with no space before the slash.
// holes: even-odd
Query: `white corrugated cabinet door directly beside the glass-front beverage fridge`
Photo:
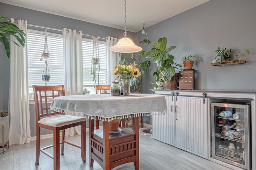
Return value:
<svg viewBox="0 0 256 170">
<path fill-rule="evenodd" d="M 178 96 L 176 101 L 176 147 L 207 157 L 208 100 Z"/>
</svg>

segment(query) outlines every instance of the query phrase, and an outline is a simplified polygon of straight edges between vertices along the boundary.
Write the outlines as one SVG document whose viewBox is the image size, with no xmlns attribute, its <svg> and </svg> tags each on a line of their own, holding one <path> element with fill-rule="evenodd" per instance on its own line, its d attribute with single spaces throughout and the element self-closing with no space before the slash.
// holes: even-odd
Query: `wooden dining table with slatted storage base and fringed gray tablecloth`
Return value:
<svg viewBox="0 0 256 170">
<path fill-rule="evenodd" d="M 94 160 L 104 170 L 134 162 L 139 169 L 139 120 L 141 116 L 164 115 L 167 110 L 165 97 L 159 94 L 130 94 L 129 96 L 71 95 L 54 98 L 50 108 L 66 111 L 70 115 L 89 119 L 89 162 Z M 118 132 L 109 132 L 113 117 L 133 119 L 132 130 L 120 127 Z M 94 119 L 103 121 L 102 129 L 94 128 Z"/>
</svg>

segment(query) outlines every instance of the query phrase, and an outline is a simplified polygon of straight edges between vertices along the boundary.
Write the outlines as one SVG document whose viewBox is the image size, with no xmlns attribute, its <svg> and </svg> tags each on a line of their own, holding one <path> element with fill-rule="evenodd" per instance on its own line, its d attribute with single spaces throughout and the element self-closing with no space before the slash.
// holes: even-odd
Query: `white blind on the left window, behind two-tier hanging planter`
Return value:
<svg viewBox="0 0 256 170">
<path fill-rule="evenodd" d="M 32 85 L 44 85 L 42 73 L 44 70 L 45 59 L 40 61 L 41 53 L 44 50 L 45 32 L 28 29 L 28 84 L 29 91 L 32 92 Z M 56 33 L 47 33 L 47 45 L 50 57 L 47 59 L 50 81 L 48 85 L 64 84 L 63 69 L 63 35 Z"/>
</svg>

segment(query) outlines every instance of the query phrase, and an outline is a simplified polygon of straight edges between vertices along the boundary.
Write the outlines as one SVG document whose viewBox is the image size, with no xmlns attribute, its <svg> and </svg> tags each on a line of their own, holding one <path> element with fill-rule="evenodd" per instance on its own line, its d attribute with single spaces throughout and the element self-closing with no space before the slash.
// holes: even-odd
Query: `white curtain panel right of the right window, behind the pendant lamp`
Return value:
<svg viewBox="0 0 256 170">
<path fill-rule="evenodd" d="M 112 84 L 113 80 L 116 78 L 118 79 L 117 75 L 113 75 L 112 72 L 114 71 L 114 66 L 119 64 L 120 57 L 119 53 L 116 53 L 114 51 L 110 51 L 108 48 L 116 45 L 118 39 L 108 36 L 106 39 L 107 45 L 106 45 L 106 55 L 107 55 L 107 62 L 108 62 L 108 84 Z"/>
</svg>

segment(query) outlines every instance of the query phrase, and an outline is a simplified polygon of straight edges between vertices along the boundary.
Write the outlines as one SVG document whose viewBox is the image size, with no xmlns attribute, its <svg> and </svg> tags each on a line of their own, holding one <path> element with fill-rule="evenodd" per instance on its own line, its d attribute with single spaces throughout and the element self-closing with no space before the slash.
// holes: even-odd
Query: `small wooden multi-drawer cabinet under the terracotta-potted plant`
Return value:
<svg viewBox="0 0 256 170">
<path fill-rule="evenodd" d="M 195 85 L 194 77 L 195 77 L 194 70 L 180 71 L 179 90 L 182 90 L 182 89 L 194 90 L 194 85 Z"/>
</svg>

